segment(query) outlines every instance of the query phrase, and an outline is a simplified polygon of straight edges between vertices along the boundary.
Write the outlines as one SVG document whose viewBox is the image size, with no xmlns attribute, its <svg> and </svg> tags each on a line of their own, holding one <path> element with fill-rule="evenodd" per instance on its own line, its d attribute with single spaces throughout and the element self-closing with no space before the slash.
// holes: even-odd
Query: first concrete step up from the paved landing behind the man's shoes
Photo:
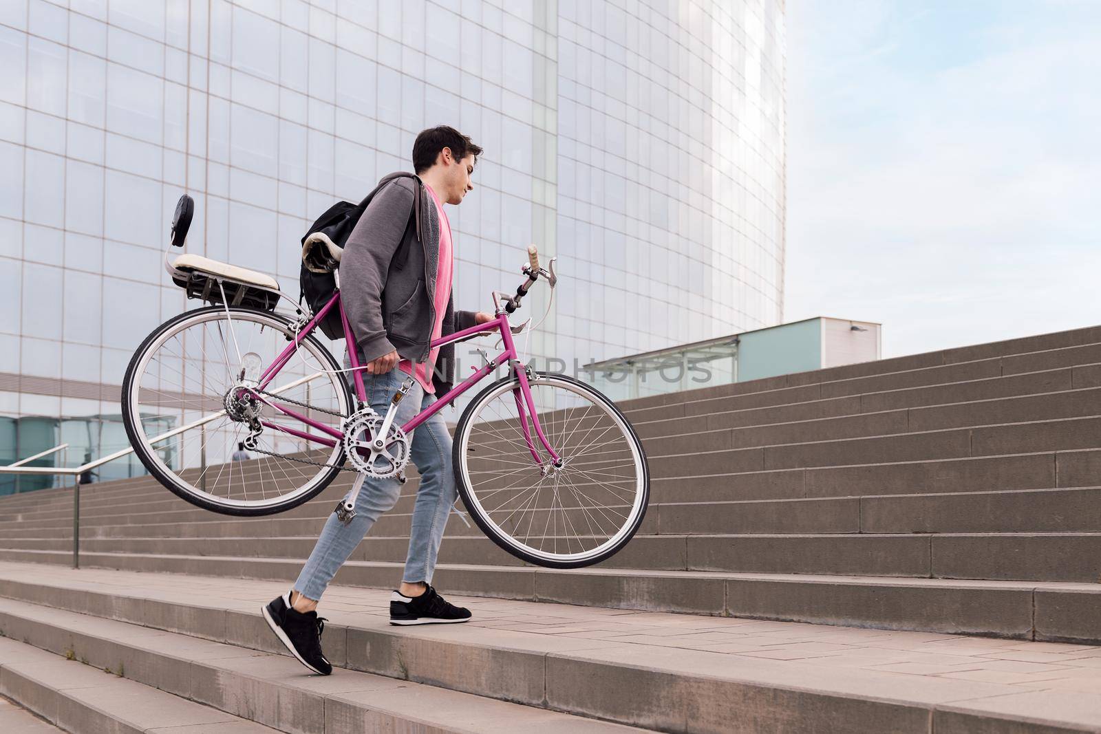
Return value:
<svg viewBox="0 0 1101 734">
<path fill-rule="evenodd" d="M 69 554 L 0 550 L 0 561 L 69 566 Z M 302 560 L 81 554 L 81 567 L 293 582 Z M 402 563 L 348 561 L 336 582 L 391 589 Z M 886 629 L 1101 644 L 1101 585 L 798 573 L 457 566 L 433 583 L 453 593 L 618 610 L 733 615 Z"/>
</svg>

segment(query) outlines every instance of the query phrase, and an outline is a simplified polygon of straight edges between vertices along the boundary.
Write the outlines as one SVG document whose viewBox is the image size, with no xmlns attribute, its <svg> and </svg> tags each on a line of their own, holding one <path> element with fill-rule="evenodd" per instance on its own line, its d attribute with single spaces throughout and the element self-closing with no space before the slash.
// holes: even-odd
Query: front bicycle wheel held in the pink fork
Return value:
<svg viewBox="0 0 1101 734">
<path fill-rule="evenodd" d="M 459 494 L 478 527 L 513 556 L 547 568 L 598 563 L 626 545 L 646 513 L 642 441 L 614 403 L 584 382 L 546 374 L 528 383 L 562 467 L 535 434 L 520 382 L 505 377 L 479 393 L 456 427 Z"/>
</svg>

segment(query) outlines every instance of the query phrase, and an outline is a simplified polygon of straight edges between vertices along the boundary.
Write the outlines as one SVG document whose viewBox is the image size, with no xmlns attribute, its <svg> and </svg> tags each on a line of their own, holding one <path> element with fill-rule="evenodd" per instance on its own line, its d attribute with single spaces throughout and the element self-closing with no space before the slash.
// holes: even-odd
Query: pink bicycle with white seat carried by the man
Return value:
<svg viewBox="0 0 1101 734">
<path fill-rule="evenodd" d="M 183 248 L 193 208 L 190 197 L 181 198 L 171 245 Z M 275 313 L 281 298 L 294 300 L 271 276 L 190 253 L 170 258 L 171 245 L 165 265 L 174 282 L 211 305 L 145 338 L 123 379 L 122 416 L 145 468 L 187 502 L 270 515 L 316 496 L 340 471 L 358 472 L 357 491 L 364 478 L 404 482 L 412 431 L 506 366 L 455 428 L 455 478 L 478 527 L 527 562 L 577 568 L 617 552 L 642 524 L 650 475 L 630 421 L 590 385 L 519 359 L 513 336 L 527 322 L 513 327 L 509 315 L 538 280 L 552 289 L 557 280 L 554 260 L 541 267 L 534 247 L 515 294 L 493 293 L 492 321 L 432 342 L 497 332 L 500 354 L 490 360 L 479 350 L 484 364 L 399 426 L 395 408 L 412 381 L 385 415 L 369 405 L 339 287 L 317 314 L 292 319 Z M 338 272 L 339 249 L 329 250 L 309 256 Z M 347 370 L 313 333 L 333 309 L 349 348 Z M 349 510 L 338 506 L 338 516 Z"/>
</svg>

